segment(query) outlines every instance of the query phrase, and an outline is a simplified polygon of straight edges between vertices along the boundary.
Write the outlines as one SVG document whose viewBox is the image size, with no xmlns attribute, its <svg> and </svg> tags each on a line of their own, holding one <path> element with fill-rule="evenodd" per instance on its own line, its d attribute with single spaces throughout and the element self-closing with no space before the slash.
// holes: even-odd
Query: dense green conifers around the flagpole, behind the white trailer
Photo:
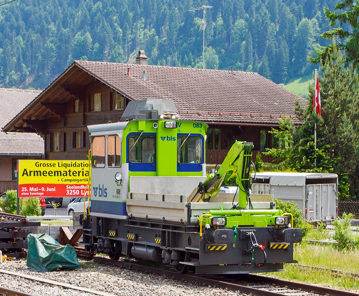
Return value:
<svg viewBox="0 0 359 296">
<path fill-rule="evenodd" d="M 282 143 L 281 147 L 267 152 L 280 157 L 284 167 L 298 172 L 337 173 L 341 200 L 359 194 L 359 80 L 354 66 L 345 67 L 345 61 L 344 54 L 334 47 L 320 66 L 322 116 L 313 111 L 314 86 L 309 85 L 307 108 L 298 102 L 295 108 L 304 124 L 294 127 L 286 118 L 280 121 L 280 131 L 272 131 L 282 142 L 290 138 L 292 145 L 283 148 Z M 317 149 L 314 123 L 317 124 Z"/>
</svg>

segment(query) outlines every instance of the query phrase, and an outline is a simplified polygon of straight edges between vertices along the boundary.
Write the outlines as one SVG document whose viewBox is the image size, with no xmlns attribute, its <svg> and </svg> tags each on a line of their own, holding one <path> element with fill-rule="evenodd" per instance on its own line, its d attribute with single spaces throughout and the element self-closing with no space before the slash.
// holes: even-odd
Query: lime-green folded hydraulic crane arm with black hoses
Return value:
<svg viewBox="0 0 359 296">
<path fill-rule="evenodd" d="M 250 187 L 250 168 L 252 159 L 253 143 L 236 141 L 229 149 L 227 156 L 223 160 L 222 165 L 215 174 L 209 174 L 207 179 L 200 183 L 197 193 L 202 194 L 202 199 L 207 200 L 215 197 L 220 191 L 223 181 L 227 181 L 232 177 L 236 177 L 238 184 L 238 208 L 246 208 L 247 197 L 249 197 Z M 194 197 L 195 197 L 194 196 Z M 204 197 L 205 196 L 205 197 Z M 192 201 L 194 200 L 192 198 Z"/>
</svg>

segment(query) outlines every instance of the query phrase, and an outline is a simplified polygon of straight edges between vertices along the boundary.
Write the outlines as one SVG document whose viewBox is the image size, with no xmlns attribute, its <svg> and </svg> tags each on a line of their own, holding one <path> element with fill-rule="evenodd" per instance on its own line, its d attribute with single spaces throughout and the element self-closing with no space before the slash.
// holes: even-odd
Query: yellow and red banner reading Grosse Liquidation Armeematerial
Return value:
<svg viewBox="0 0 359 296">
<path fill-rule="evenodd" d="M 19 197 L 88 196 L 86 160 L 19 160 Z"/>
</svg>

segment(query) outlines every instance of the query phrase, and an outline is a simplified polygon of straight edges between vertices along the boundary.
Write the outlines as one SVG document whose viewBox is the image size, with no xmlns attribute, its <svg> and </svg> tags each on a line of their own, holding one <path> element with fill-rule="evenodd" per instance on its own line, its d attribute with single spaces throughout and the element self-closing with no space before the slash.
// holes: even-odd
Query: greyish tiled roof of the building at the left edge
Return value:
<svg viewBox="0 0 359 296">
<path fill-rule="evenodd" d="M 0 88 L 0 128 L 40 93 L 39 90 Z M 42 153 L 44 141 L 36 133 L 7 134 L 0 130 L 0 155 Z"/>
</svg>

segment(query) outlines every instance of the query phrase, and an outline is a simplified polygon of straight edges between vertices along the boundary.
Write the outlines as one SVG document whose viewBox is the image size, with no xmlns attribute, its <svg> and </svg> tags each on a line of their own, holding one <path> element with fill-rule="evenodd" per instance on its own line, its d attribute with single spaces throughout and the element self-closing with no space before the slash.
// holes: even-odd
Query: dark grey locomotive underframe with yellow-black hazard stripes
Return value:
<svg viewBox="0 0 359 296">
<path fill-rule="evenodd" d="M 193 266 L 197 274 L 274 272 L 282 271 L 283 263 L 297 263 L 293 260 L 293 243 L 279 241 L 275 237 L 278 231 L 275 227 L 237 227 L 237 239 L 228 244 L 206 241 L 206 231 L 210 230 L 204 230 L 200 237 L 199 226 L 194 223 L 139 217 L 112 219 L 87 215 L 83 230 L 88 250 L 103 252 L 104 249 L 98 247 L 108 240 L 111 252 L 116 249 L 132 257 L 133 247 L 136 247 L 145 256 L 151 252 L 156 254 L 149 260 L 162 261 L 168 266 Z M 258 248 L 252 253 L 251 240 L 242 235 L 251 231 L 258 244 L 266 246 L 267 262 L 261 267 L 264 254 Z M 116 248 L 117 241 L 121 244 Z M 285 248 L 272 248 L 274 244 Z"/>
</svg>

